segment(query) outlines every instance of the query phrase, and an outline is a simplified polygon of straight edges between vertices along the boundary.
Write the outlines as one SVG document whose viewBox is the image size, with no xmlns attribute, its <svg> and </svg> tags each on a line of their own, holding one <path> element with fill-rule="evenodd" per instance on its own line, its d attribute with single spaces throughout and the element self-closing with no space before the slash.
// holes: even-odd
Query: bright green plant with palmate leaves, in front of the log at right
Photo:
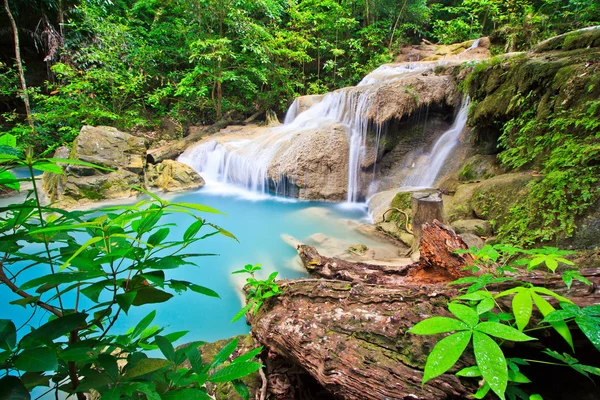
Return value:
<svg viewBox="0 0 600 400">
<path fill-rule="evenodd" d="M 462 289 L 465 293 L 448 304 L 448 310 L 456 318 L 427 318 L 408 331 L 418 335 L 451 333 L 439 340 L 429 354 L 423 383 L 452 368 L 470 342 L 476 365 L 463 368 L 456 372 L 456 375 L 483 379 L 477 393 L 473 395 L 477 399 L 484 398 L 490 390 L 501 399 L 505 399 L 506 396 L 510 399 L 540 399 L 541 396 L 527 396 L 518 388 L 519 384 L 531 382 L 521 369 L 535 363 L 566 365 L 585 376 L 600 376 L 600 368 L 582 365 L 568 353 L 561 355 L 550 349 L 544 350 L 544 354 L 560 361 L 556 363 L 507 358 L 502 350 L 506 342 L 536 340 L 527 335 L 528 332 L 553 329 L 574 351 L 571 330 L 567 325 L 568 322 L 574 321 L 600 351 L 600 307 L 595 305 L 580 308 L 554 291 L 520 282 L 518 275 L 515 277 L 523 268 L 531 271 L 544 266 L 546 273 L 552 274 L 560 268 L 562 278 L 569 288 L 573 279 L 591 284 L 577 269 L 564 269 L 561 266 L 573 266 L 571 261 L 564 258 L 574 254 L 573 252 L 552 247 L 524 250 L 504 244 L 486 245 L 479 250 L 473 248 L 461 252 L 469 252 L 473 256 L 475 262 L 471 269 L 480 274 L 452 282 L 455 285 L 467 285 Z M 509 284 L 512 288 L 496 294 L 488 290 L 488 286 L 498 283 Z M 512 296 L 510 310 L 505 309 L 506 301 L 502 301 L 507 296 Z M 561 309 L 556 310 L 547 299 L 558 302 Z M 532 326 L 534 324 L 531 322 L 534 306 L 543 317 L 536 326 Z"/>
</svg>

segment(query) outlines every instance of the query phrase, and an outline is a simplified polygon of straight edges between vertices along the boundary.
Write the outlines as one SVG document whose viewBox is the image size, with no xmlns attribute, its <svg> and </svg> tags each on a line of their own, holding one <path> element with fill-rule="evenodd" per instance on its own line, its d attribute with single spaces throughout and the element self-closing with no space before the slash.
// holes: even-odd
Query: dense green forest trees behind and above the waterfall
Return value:
<svg viewBox="0 0 600 400">
<path fill-rule="evenodd" d="M 161 118 L 185 126 L 281 113 L 297 95 L 356 84 L 421 38 L 490 35 L 497 51 L 526 49 L 597 23 L 599 7 L 593 0 L 6 0 L 2 24 L 13 29 L 3 31 L 0 124 L 43 151 L 71 141 L 82 124 L 148 132 Z"/>
</svg>

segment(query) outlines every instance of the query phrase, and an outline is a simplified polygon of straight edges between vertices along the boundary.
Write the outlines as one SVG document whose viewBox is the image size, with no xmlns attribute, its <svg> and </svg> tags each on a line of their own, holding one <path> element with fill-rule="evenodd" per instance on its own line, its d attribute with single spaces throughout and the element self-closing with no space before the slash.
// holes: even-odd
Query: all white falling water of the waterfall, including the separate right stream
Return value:
<svg viewBox="0 0 600 400">
<path fill-rule="evenodd" d="M 299 99 L 294 100 L 282 126 L 264 129 L 265 133 L 256 137 L 226 143 L 217 140 L 203 143 L 186 151 L 179 160 L 201 173 L 209 187 L 223 189 L 225 185 L 234 184 L 263 194 L 270 189 L 275 189 L 276 194 L 285 196 L 289 194 L 286 192 L 288 190 L 286 183 L 277 182 L 282 174 L 269 171 L 274 157 L 281 149 L 286 148 L 295 134 L 323 129 L 338 123 L 346 127 L 349 139 L 347 202 L 357 202 L 362 186 L 361 162 L 367 152 L 366 139 L 369 129 L 367 115 L 373 107 L 374 95 L 377 91 L 375 84 L 390 82 L 406 74 L 430 70 L 436 65 L 435 63 L 382 65 L 365 76 L 356 87 L 328 93 L 321 101 L 303 112 L 300 112 Z M 455 122 L 457 135 L 466 122 L 465 107 L 463 106 Z M 377 129 L 378 136 L 381 134 L 380 131 L 381 129 Z M 440 138 L 429 157 L 431 165 L 423 168 L 422 176 L 411 177 L 411 186 L 427 186 L 433 183 L 448 154 L 456 145 L 452 137 L 452 134 L 447 132 Z M 287 178 L 293 183 L 294 177 Z M 216 183 L 219 185 L 215 185 Z"/>
</svg>

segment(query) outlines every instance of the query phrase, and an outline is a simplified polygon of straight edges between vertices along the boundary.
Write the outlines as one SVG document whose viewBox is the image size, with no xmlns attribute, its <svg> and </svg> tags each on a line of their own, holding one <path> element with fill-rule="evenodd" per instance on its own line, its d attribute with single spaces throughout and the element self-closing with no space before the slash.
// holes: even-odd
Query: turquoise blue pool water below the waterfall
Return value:
<svg viewBox="0 0 600 400">
<path fill-rule="evenodd" d="M 204 214 L 203 217 L 232 232 L 239 243 L 225 236 L 212 236 L 188 247 L 186 252 L 217 253 L 219 256 L 198 257 L 192 259 L 196 264 L 194 266 L 165 271 L 167 279 L 187 280 L 209 287 L 219 293 L 221 298 L 185 292 L 176 294 L 166 303 L 132 307 L 129 315 L 117 321 L 111 333 L 127 331 L 154 309 L 157 311 L 154 324 L 166 327 L 166 333 L 189 331 L 179 343 L 214 341 L 247 333 L 249 327 L 243 318 L 236 323 L 230 322 L 242 307 L 241 287 L 245 280 L 244 275 L 231 275 L 232 271 L 250 263 L 262 264 L 263 270 L 258 273 L 259 278 L 266 278 L 272 271 L 278 271 L 279 278 L 305 277 L 306 272 L 300 268 L 296 250 L 282 240 L 282 234 L 291 235 L 300 241 L 305 241 L 315 233 L 323 233 L 343 239 L 348 244 L 364 242 L 364 237 L 342 223 L 342 219 L 364 219 L 364 209 L 289 201 L 230 189 L 206 187 L 166 197 L 170 201 L 204 204 L 227 214 Z M 171 234 L 176 238 L 182 237 L 192 221 L 191 217 L 181 214 L 163 219 L 164 223 L 177 225 L 171 228 Z M 35 277 L 40 271 L 27 271 L 19 282 Z M 8 301 L 15 298 L 4 285 L 0 286 L 0 318 L 10 318 L 20 326 L 29 318 L 30 312 L 25 312 L 20 306 L 7 305 Z M 72 301 L 72 298 L 65 299 L 67 303 Z M 48 315 L 38 312 L 30 324 L 38 326 L 47 318 Z M 25 328 L 20 333 L 27 331 Z"/>
</svg>

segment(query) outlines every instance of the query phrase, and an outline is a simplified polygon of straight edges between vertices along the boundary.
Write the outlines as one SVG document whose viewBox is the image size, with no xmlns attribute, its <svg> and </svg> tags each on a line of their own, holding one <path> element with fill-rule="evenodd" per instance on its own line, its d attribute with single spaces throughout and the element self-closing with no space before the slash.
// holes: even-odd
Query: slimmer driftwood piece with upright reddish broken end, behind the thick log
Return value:
<svg viewBox="0 0 600 400">
<path fill-rule="evenodd" d="M 298 246 L 298 254 L 304 267 L 319 277 L 397 287 L 451 282 L 467 275 L 462 269 L 473 258 L 469 254 L 454 254 L 455 250 L 467 248 L 454 231 L 434 221 L 424 225 L 421 259 L 414 264 L 395 267 L 345 261 L 321 256 L 314 247 L 306 245 Z"/>
</svg>

